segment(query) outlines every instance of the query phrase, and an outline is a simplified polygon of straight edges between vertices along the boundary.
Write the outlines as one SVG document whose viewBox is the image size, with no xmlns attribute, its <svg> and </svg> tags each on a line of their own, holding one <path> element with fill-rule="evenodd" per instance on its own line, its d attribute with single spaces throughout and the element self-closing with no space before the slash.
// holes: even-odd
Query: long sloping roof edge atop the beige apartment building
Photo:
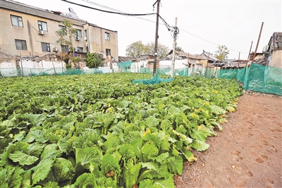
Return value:
<svg viewBox="0 0 282 188">
<path fill-rule="evenodd" d="M 6 8 L 12 11 L 18 11 L 20 13 L 27 13 L 33 16 L 39 16 L 42 18 L 48 18 L 50 20 L 62 21 L 64 19 L 71 20 L 73 25 L 85 25 L 87 22 L 85 20 L 71 18 L 69 16 L 62 16 L 51 11 L 47 11 L 41 8 L 36 8 L 34 6 L 29 6 L 27 4 L 21 4 L 16 1 L 11 0 L 0 0 L 0 8 Z"/>
</svg>

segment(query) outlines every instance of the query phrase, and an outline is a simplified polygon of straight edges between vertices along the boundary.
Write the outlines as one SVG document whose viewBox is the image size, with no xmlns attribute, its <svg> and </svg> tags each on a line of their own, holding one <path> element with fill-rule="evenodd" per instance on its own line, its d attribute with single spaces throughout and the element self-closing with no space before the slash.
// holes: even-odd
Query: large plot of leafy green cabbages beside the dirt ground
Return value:
<svg viewBox="0 0 282 188">
<path fill-rule="evenodd" d="M 243 94 L 237 81 L 151 74 L 1 78 L 0 187 L 174 187 Z"/>
</svg>

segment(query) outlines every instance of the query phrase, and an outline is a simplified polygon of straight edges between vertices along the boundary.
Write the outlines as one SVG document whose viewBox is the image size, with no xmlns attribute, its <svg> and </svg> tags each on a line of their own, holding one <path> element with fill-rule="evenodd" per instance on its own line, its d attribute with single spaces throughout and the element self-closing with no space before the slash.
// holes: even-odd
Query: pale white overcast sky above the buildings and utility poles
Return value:
<svg viewBox="0 0 282 188">
<path fill-rule="evenodd" d="M 118 31 L 118 56 L 125 56 L 125 49 L 133 42 L 154 42 L 156 15 L 122 16 L 114 13 L 84 8 L 61 0 L 14 0 L 30 6 L 69 13 L 73 8 L 78 18 L 99 27 Z M 124 13 L 157 13 L 157 0 L 68 0 L 105 11 Z M 155 6 L 153 7 L 153 5 Z M 274 32 L 282 32 L 282 0 L 161 0 L 159 15 L 171 27 L 177 27 L 177 46 L 190 54 L 201 54 L 203 50 L 214 54 L 218 45 L 225 45 L 228 59 L 247 59 L 257 47 L 259 32 L 262 35 L 257 52 L 268 45 Z M 161 45 L 173 48 L 173 37 L 162 20 L 159 20 Z"/>
</svg>

